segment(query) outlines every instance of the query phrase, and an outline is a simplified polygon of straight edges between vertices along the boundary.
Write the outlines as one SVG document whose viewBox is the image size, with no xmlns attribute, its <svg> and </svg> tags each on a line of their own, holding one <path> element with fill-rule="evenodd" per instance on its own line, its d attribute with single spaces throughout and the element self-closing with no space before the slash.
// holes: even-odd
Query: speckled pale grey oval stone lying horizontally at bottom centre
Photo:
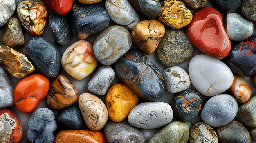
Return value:
<svg viewBox="0 0 256 143">
<path fill-rule="evenodd" d="M 135 106 L 128 115 L 128 122 L 136 128 L 160 128 L 173 119 L 171 106 L 164 102 L 144 102 Z"/>
</svg>

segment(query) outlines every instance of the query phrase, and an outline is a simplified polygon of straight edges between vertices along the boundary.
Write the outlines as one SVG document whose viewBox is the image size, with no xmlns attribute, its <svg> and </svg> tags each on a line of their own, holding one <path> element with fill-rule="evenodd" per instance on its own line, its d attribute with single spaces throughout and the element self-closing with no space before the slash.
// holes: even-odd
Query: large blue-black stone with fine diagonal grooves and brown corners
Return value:
<svg viewBox="0 0 256 143">
<path fill-rule="evenodd" d="M 100 33 L 108 23 L 108 13 L 99 4 L 76 3 L 72 8 L 72 32 L 81 40 Z"/>
</svg>

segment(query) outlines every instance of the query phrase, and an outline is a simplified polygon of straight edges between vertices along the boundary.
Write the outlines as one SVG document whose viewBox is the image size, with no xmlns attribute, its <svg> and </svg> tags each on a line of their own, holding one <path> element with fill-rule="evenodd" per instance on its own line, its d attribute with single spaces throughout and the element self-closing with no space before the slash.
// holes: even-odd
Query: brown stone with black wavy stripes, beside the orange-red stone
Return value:
<svg viewBox="0 0 256 143">
<path fill-rule="evenodd" d="M 46 104 L 52 109 L 62 109 L 71 106 L 78 100 L 76 87 L 65 75 L 58 75 L 46 95 Z"/>
</svg>

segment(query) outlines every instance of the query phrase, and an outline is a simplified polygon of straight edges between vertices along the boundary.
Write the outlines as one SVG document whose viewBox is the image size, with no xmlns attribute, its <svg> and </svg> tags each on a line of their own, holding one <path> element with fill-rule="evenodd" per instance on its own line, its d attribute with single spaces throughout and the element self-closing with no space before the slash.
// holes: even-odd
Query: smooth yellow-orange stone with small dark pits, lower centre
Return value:
<svg viewBox="0 0 256 143">
<path fill-rule="evenodd" d="M 109 118 L 114 122 L 123 121 L 138 101 L 139 97 L 128 86 L 115 84 L 106 95 Z"/>
</svg>

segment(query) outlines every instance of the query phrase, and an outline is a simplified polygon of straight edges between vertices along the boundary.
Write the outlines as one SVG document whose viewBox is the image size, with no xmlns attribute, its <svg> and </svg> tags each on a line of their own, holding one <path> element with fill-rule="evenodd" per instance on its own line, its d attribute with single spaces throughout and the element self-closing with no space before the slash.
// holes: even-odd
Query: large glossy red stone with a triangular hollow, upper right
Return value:
<svg viewBox="0 0 256 143">
<path fill-rule="evenodd" d="M 231 49 L 221 14 L 213 7 L 203 7 L 193 15 L 186 35 L 195 47 L 218 59 L 226 57 Z"/>
</svg>

